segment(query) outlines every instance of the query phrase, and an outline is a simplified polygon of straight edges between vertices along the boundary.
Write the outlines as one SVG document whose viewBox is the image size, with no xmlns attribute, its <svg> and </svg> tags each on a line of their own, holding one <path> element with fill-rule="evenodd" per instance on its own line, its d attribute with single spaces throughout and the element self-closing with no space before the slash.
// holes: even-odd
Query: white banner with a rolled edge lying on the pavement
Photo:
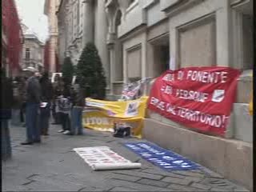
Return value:
<svg viewBox="0 0 256 192">
<path fill-rule="evenodd" d="M 93 170 L 117 170 L 140 168 L 141 163 L 133 163 L 114 153 L 108 146 L 81 147 L 73 149 Z"/>
</svg>

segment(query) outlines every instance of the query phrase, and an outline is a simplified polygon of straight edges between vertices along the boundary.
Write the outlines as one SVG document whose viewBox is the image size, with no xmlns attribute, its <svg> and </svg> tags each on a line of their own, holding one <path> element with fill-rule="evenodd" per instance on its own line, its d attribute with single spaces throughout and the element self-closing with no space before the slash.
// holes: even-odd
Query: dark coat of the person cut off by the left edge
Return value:
<svg viewBox="0 0 256 192">
<path fill-rule="evenodd" d="M 1 119 L 11 118 L 11 109 L 14 103 L 14 93 L 12 88 L 12 82 L 8 78 L 1 79 Z"/>
</svg>

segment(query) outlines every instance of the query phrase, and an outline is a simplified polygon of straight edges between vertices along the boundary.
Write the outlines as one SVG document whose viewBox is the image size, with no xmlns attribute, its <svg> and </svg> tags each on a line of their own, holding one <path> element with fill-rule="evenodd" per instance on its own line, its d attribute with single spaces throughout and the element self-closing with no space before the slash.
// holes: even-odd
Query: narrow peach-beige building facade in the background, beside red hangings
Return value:
<svg viewBox="0 0 256 192">
<path fill-rule="evenodd" d="M 46 50 L 49 56 L 49 66 L 50 73 L 57 72 L 58 65 L 56 63 L 56 58 L 58 57 L 58 18 L 56 16 L 56 11 L 58 10 L 59 0 L 46 0 L 44 6 L 44 14 L 48 17 L 49 23 L 49 46 Z"/>
</svg>

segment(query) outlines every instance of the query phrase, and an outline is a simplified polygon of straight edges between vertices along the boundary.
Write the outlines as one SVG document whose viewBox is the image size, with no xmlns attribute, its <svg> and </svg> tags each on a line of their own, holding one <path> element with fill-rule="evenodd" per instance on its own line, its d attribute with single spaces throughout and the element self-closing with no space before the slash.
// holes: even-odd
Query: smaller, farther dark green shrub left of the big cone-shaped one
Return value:
<svg viewBox="0 0 256 192">
<path fill-rule="evenodd" d="M 64 59 L 64 63 L 62 65 L 62 78 L 66 86 L 71 84 L 73 74 L 74 66 L 72 64 L 70 57 L 67 57 Z"/>
</svg>

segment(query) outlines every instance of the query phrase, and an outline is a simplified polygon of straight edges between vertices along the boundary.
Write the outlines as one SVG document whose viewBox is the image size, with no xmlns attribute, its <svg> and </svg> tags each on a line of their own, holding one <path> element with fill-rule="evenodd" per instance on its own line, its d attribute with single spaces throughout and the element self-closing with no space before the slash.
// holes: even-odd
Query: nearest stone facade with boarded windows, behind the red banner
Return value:
<svg viewBox="0 0 256 192">
<path fill-rule="evenodd" d="M 189 126 L 154 113 L 149 113 L 143 132 L 146 139 L 170 147 L 250 190 L 253 123 L 248 103 L 253 87 L 250 77 L 254 58 L 253 3 L 251 0 L 106 1 L 113 91 L 118 90 L 118 78 L 124 83 L 155 78 L 167 69 L 230 66 L 242 70 L 226 139 L 191 133 Z M 170 60 L 174 65 L 170 65 Z M 115 74 L 122 76 L 117 78 Z M 234 143 L 230 145 L 230 141 Z M 225 150 L 220 152 L 220 148 Z M 241 156 L 244 158 L 240 159 Z"/>
</svg>

